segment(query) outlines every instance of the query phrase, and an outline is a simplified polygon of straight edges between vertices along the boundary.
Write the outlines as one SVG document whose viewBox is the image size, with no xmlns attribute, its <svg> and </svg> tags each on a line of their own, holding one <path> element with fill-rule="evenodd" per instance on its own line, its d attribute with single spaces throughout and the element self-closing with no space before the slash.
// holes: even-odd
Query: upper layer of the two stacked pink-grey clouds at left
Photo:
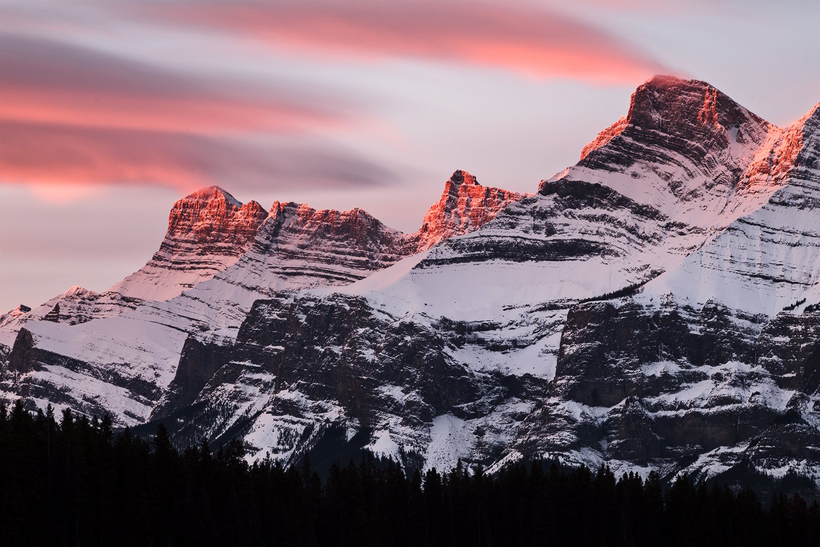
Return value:
<svg viewBox="0 0 820 547">
<path fill-rule="evenodd" d="M 207 134 L 338 125 L 306 89 L 204 80 L 66 43 L 3 35 L 0 119 Z"/>
</svg>

